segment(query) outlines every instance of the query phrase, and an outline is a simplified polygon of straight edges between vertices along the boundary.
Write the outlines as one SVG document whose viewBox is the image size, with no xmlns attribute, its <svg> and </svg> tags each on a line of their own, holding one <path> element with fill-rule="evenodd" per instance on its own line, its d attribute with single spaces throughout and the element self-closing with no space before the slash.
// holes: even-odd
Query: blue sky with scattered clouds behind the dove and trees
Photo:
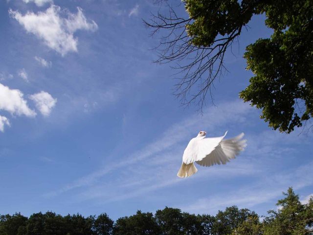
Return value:
<svg viewBox="0 0 313 235">
<path fill-rule="evenodd" d="M 172 95 L 170 65 L 152 63 L 158 38 L 142 19 L 157 10 L 150 0 L 0 1 L 1 214 L 117 219 L 231 205 L 266 214 L 290 186 L 301 200 L 313 193 L 312 134 L 273 131 L 238 98 L 252 75 L 245 47 L 271 33 L 264 16 L 253 17 L 226 55 L 216 106 L 208 100 L 201 116 Z M 200 130 L 245 132 L 246 150 L 179 179 L 183 150 Z"/>
</svg>

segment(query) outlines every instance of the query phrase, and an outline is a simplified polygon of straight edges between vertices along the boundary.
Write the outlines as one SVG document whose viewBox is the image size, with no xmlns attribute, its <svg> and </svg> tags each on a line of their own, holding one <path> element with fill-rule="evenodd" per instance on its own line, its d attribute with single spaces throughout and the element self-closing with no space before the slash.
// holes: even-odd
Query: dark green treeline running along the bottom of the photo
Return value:
<svg viewBox="0 0 313 235">
<path fill-rule="evenodd" d="M 0 235 L 313 235 L 313 198 L 301 204 L 292 188 L 278 201 L 278 211 L 260 217 L 236 206 L 215 216 L 175 208 L 155 214 L 137 211 L 115 222 L 106 214 L 84 217 L 54 212 L 0 215 Z"/>
</svg>

